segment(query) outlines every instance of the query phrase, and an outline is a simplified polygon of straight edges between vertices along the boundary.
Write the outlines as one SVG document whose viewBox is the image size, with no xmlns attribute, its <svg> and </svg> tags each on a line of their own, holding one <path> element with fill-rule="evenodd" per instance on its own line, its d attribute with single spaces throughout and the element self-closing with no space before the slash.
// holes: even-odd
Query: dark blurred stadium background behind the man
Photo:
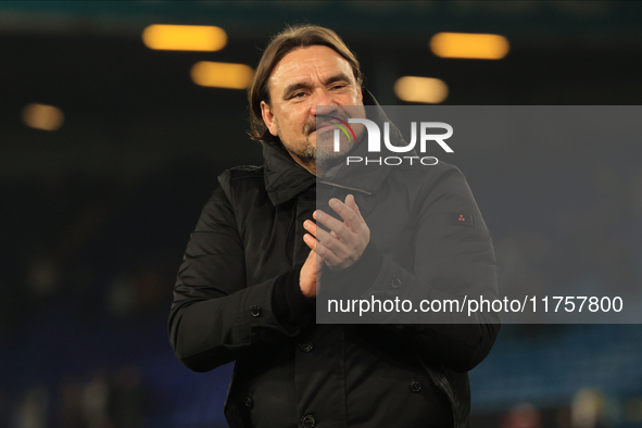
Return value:
<svg viewBox="0 0 642 428">
<path fill-rule="evenodd" d="M 0 2 L 0 427 L 225 427 L 231 367 L 193 374 L 166 319 L 216 176 L 261 164 L 246 92 L 192 79 L 255 67 L 286 24 L 335 29 L 381 104 L 403 76 L 439 101 L 640 104 L 638 1 Z M 150 49 L 153 24 L 214 25 L 216 51 Z M 498 60 L 440 58 L 442 32 L 501 35 Z M 542 124 L 545 126 L 545 124 Z M 642 146 L 483 148 L 449 158 L 500 280 L 642 284 Z M 625 302 L 626 303 L 626 302 Z M 470 373 L 473 426 L 642 426 L 639 325 L 505 326 Z"/>
</svg>

